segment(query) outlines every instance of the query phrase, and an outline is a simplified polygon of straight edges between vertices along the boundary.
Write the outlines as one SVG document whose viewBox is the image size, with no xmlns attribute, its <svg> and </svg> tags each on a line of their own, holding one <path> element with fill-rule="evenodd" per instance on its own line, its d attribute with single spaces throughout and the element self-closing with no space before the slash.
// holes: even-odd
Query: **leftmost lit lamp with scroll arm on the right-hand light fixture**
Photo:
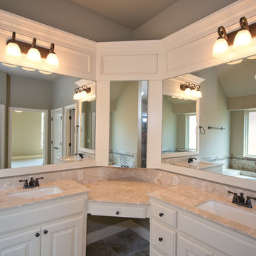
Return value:
<svg viewBox="0 0 256 256">
<path fill-rule="evenodd" d="M 218 35 L 213 45 L 213 57 L 220 57 L 228 51 L 228 36 L 223 26 L 218 27 Z"/>
</svg>

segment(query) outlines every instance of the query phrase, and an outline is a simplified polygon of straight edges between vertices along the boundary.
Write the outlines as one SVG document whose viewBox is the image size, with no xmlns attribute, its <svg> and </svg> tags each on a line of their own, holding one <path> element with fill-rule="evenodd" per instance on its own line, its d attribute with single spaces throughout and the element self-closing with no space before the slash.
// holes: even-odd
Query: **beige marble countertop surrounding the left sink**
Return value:
<svg viewBox="0 0 256 256">
<path fill-rule="evenodd" d="M 18 192 L 26 192 L 26 191 L 33 191 L 40 188 L 48 188 L 57 186 L 63 192 L 62 193 L 55 193 L 49 196 L 41 196 L 37 198 L 31 199 L 21 199 L 21 198 L 9 198 L 8 195 L 12 193 Z M 85 185 L 81 185 L 73 180 L 64 180 L 58 182 L 50 182 L 50 183 L 42 183 L 39 187 L 36 188 L 12 188 L 4 191 L 0 191 L 0 210 L 6 210 L 8 208 L 15 208 L 21 207 L 32 203 L 40 203 L 43 201 L 49 201 L 65 196 L 73 196 L 80 193 L 88 193 L 90 189 L 87 188 Z"/>
</svg>

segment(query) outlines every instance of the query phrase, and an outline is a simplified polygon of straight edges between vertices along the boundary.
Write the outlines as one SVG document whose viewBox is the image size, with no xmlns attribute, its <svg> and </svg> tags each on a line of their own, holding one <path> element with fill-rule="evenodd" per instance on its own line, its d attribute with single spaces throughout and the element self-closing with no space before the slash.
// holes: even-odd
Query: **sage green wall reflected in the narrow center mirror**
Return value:
<svg viewBox="0 0 256 256">
<path fill-rule="evenodd" d="M 137 153 L 138 82 L 126 82 L 110 119 L 110 149 Z"/>
</svg>

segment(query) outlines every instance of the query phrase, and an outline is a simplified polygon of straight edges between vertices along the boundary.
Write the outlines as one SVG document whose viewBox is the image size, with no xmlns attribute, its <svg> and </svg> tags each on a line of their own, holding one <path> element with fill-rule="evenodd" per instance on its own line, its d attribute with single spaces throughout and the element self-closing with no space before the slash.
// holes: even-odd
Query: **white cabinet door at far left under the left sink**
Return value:
<svg viewBox="0 0 256 256">
<path fill-rule="evenodd" d="M 0 256 L 39 256 L 40 229 L 28 230 L 0 239 Z"/>
</svg>

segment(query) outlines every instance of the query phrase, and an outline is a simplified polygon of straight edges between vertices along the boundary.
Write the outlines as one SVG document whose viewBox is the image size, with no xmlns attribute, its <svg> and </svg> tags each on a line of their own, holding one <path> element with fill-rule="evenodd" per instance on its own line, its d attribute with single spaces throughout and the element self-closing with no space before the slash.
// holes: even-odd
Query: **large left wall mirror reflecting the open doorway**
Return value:
<svg viewBox="0 0 256 256">
<path fill-rule="evenodd" d="M 91 93 L 73 100 L 81 83 L 92 87 Z M 94 159 L 95 86 L 93 81 L 1 63 L 1 169 Z"/>
</svg>

